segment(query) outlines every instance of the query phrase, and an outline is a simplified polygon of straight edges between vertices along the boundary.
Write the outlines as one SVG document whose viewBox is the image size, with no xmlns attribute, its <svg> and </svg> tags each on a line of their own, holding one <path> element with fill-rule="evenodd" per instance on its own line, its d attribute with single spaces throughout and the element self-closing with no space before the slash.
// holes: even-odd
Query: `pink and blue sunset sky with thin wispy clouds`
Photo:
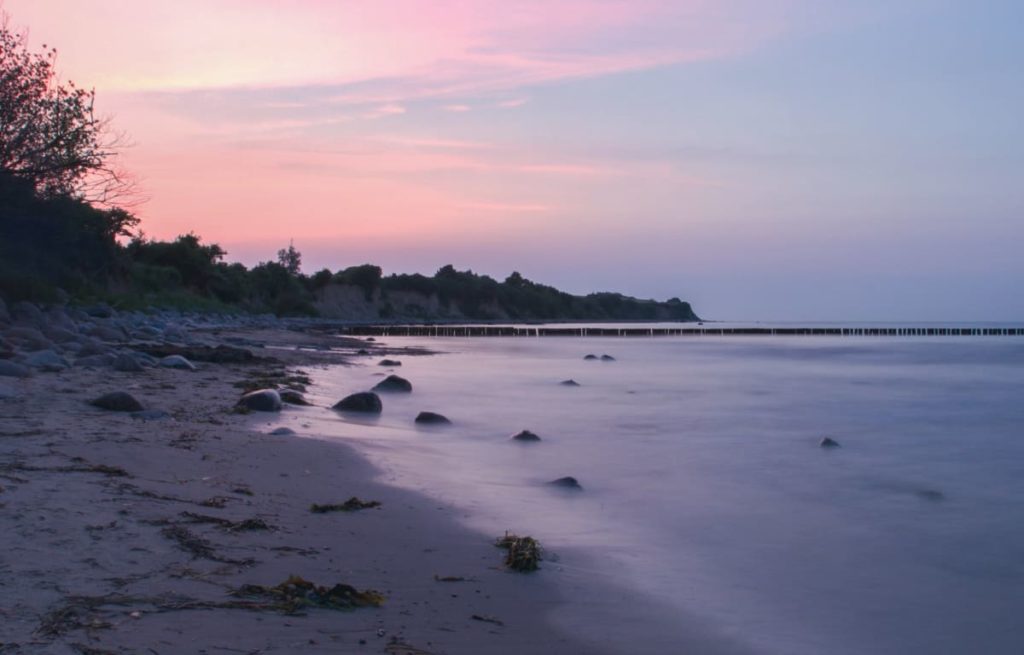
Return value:
<svg viewBox="0 0 1024 655">
<path fill-rule="evenodd" d="M 152 237 L 723 320 L 1024 320 L 1019 0 L 3 0 Z"/>
</svg>

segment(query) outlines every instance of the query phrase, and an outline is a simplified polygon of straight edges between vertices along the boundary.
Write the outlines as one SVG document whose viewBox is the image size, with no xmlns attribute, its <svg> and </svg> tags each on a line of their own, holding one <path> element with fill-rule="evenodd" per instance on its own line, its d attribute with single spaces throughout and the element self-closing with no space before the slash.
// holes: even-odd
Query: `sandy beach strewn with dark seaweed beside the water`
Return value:
<svg viewBox="0 0 1024 655">
<path fill-rule="evenodd" d="M 232 411 L 234 384 L 257 372 L 348 363 L 338 352 L 287 349 L 322 348 L 326 338 L 203 337 L 226 338 L 271 346 L 254 351 L 276 361 L 76 365 L 0 379 L 0 652 L 596 652 L 550 626 L 546 615 L 563 603 L 556 585 L 544 570 L 504 569 L 497 535 L 375 482 L 343 444 L 271 435 L 280 414 Z M 148 411 L 88 404 L 111 391 Z M 301 430 L 303 412 L 323 411 L 286 405 L 284 416 Z M 353 496 L 381 505 L 310 511 Z M 385 600 L 287 612 L 242 593 L 292 575 Z"/>
</svg>

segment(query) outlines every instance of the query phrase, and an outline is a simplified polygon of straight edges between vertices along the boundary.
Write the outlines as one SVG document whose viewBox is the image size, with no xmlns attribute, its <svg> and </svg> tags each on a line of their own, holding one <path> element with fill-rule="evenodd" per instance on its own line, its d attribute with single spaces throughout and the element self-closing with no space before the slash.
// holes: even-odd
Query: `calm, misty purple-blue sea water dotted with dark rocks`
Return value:
<svg viewBox="0 0 1024 655">
<path fill-rule="evenodd" d="M 415 391 L 379 421 L 315 430 L 481 531 L 541 538 L 570 586 L 640 595 L 555 617 L 613 650 L 678 652 L 685 623 L 723 651 L 1024 652 L 1024 339 L 387 343 L 445 354 L 401 357 Z M 455 425 L 414 427 L 424 409 Z M 585 490 L 544 484 L 565 475 Z"/>
</svg>

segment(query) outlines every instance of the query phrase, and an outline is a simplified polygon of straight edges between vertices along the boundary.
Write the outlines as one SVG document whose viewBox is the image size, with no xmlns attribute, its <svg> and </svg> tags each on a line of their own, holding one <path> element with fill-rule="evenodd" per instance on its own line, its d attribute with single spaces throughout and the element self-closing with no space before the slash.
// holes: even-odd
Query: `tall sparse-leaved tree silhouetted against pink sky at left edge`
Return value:
<svg viewBox="0 0 1024 655">
<path fill-rule="evenodd" d="M 114 167 L 124 138 L 96 117 L 94 90 L 58 82 L 56 56 L 45 45 L 31 52 L 0 11 L 0 171 L 42 196 L 123 205 L 134 191 Z"/>
</svg>

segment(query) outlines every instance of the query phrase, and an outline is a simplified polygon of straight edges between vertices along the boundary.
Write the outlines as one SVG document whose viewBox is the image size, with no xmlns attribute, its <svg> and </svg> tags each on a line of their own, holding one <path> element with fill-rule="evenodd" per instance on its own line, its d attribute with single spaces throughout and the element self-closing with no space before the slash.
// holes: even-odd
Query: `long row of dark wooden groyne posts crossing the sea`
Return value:
<svg viewBox="0 0 1024 655">
<path fill-rule="evenodd" d="M 544 325 L 348 325 L 353 337 L 1024 337 L 1024 328 L 547 328 Z"/>
</svg>

